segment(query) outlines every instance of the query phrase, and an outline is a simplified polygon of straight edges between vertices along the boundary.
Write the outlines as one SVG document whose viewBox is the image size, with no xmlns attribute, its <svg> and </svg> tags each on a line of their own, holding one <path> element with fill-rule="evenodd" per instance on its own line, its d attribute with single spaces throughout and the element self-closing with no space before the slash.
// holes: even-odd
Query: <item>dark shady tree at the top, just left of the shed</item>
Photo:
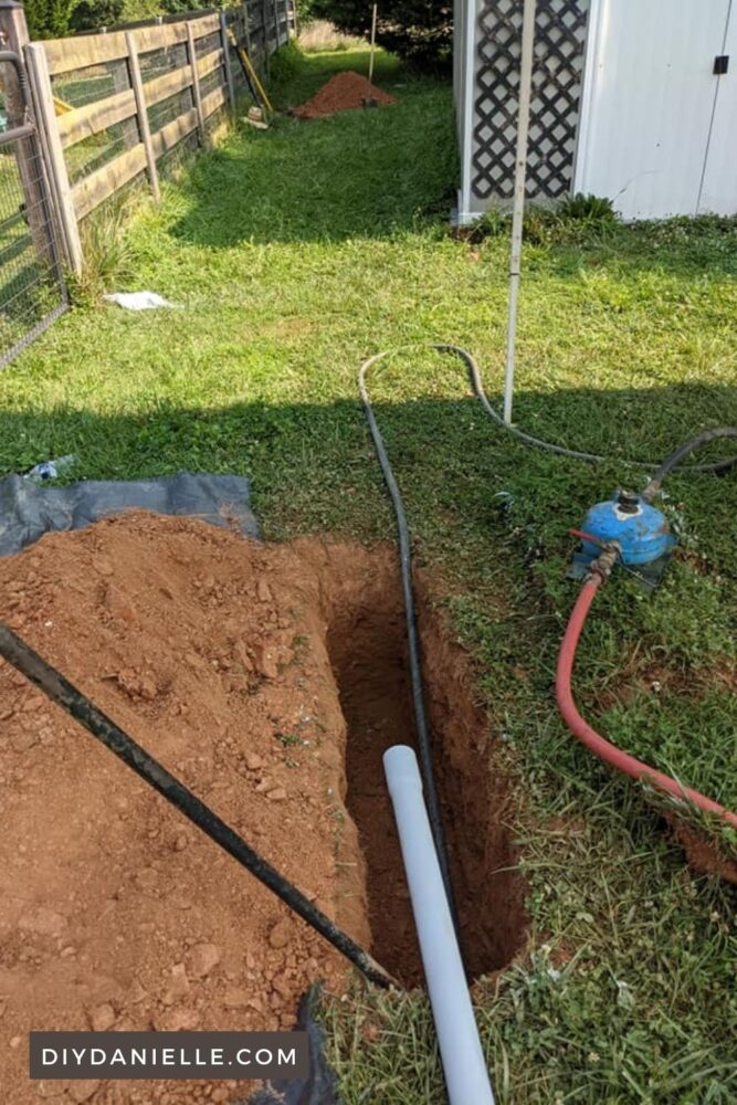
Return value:
<svg viewBox="0 0 737 1105">
<path fill-rule="evenodd" d="M 346 34 L 367 38 L 370 0 L 313 0 L 313 13 Z M 385 0 L 377 42 L 422 69 L 448 69 L 453 60 L 453 3 L 449 0 Z"/>
</svg>

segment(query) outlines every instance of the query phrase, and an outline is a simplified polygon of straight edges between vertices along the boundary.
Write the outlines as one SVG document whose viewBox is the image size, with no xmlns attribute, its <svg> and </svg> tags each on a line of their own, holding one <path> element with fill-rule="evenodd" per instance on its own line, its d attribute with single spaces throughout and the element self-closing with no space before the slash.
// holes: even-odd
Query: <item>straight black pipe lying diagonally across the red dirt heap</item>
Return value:
<svg viewBox="0 0 737 1105">
<path fill-rule="evenodd" d="M 0 622 L 0 656 L 18 669 L 31 683 L 40 687 L 52 702 L 76 718 L 85 729 L 109 748 L 136 775 L 139 775 L 171 802 L 185 817 L 201 829 L 210 840 L 232 855 L 241 866 L 267 886 L 285 905 L 306 920 L 331 944 L 346 959 L 377 986 L 397 986 L 394 979 L 379 964 L 339 929 L 329 917 L 317 909 L 304 894 L 259 855 L 230 825 L 225 824 L 204 802 L 167 771 L 161 764 L 137 745 L 115 722 L 97 709 L 81 691 L 46 663 L 19 636 Z"/>
</svg>

